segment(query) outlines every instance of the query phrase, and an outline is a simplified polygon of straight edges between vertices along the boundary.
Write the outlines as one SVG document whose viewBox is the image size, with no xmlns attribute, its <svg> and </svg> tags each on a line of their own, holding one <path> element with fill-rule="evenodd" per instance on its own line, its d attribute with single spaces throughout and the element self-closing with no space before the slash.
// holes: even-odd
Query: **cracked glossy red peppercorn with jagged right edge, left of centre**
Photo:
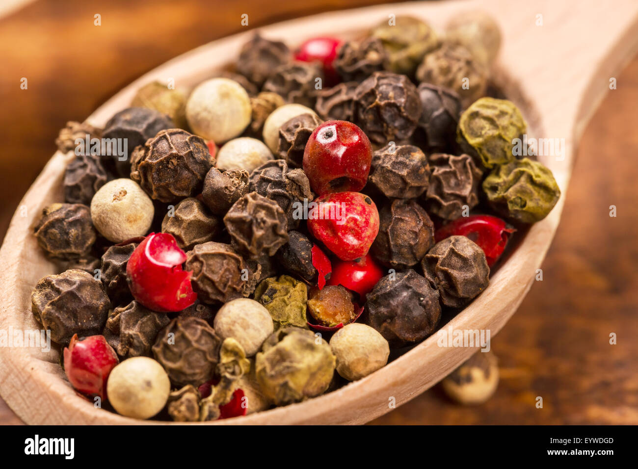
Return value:
<svg viewBox="0 0 638 469">
<path fill-rule="evenodd" d="M 131 294 L 142 306 L 162 313 L 181 311 L 197 299 L 191 273 L 182 271 L 186 254 L 171 234 L 151 233 L 126 265 Z"/>
</svg>

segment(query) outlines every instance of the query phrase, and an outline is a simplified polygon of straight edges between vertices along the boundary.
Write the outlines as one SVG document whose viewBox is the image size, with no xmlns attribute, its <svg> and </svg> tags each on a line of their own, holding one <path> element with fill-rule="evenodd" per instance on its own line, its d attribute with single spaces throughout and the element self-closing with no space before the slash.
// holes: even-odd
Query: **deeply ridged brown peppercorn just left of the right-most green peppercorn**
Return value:
<svg viewBox="0 0 638 469">
<path fill-rule="evenodd" d="M 429 212 L 445 220 L 455 220 L 479 203 L 483 172 L 470 155 L 434 153 L 429 161 L 432 175 L 425 197 Z"/>
</svg>

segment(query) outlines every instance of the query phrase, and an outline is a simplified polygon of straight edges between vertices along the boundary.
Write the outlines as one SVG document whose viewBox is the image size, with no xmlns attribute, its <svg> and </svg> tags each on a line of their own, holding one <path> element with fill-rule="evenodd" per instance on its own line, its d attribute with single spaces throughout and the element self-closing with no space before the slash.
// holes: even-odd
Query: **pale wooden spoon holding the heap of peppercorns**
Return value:
<svg viewBox="0 0 638 469">
<path fill-rule="evenodd" d="M 574 163 L 575 144 L 610 80 L 638 50 L 638 2 L 507 0 L 404 3 L 336 11 L 262 28 L 266 37 L 295 44 L 318 35 L 360 34 L 389 15 L 414 15 L 439 31 L 456 13 L 484 10 L 503 32 L 494 76 L 508 98 L 523 110 L 530 137 L 565 138 L 562 156 L 542 156 L 563 193 L 545 220 L 530 228 L 520 246 L 491 278 L 487 290 L 447 327 L 485 329 L 494 336 L 531 287 L 560 220 Z M 192 87 L 234 61 L 251 31 L 214 41 L 147 73 L 89 117 L 103 126 L 128 107 L 140 86 L 173 78 Z M 618 86 L 623 86 L 619 83 Z M 43 257 L 33 227 L 45 205 L 63 200 L 68 156 L 56 153 L 20 202 L 0 250 L 2 311 L 0 334 L 40 329 L 31 314 L 31 291 L 41 277 L 56 272 Z M 557 288 L 560 286 L 557 285 Z M 359 424 L 389 412 L 425 391 L 477 348 L 437 345 L 437 334 L 372 375 L 319 398 L 211 424 Z M 0 347 L 0 394 L 29 424 L 140 423 L 94 407 L 64 379 L 57 350 Z M 168 422 L 149 422 L 167 424 Z"/>
</svg>

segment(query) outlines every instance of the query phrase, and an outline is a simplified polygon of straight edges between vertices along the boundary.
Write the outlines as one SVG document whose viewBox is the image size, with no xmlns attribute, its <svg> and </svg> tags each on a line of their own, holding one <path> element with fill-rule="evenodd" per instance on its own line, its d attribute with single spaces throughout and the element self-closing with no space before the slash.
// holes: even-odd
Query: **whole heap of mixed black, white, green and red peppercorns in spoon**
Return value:
<svg viewBox="0 0 638 469">
<path fill-rule="evenodd" d="M 512 153 L 516 105 L 486 95 L 499 45 L 484 15 L 297 50 L 255 34 L 189 96 L 152 82 L 103 130 L 69 123 L 65 153 L 128 142 L 77 154 L 35 228 L 64 271 L 33 314 L 71 385 L 128 417 L 208 421 L 313 398 L 430 336 L 560 197 Z"/>
</svg>

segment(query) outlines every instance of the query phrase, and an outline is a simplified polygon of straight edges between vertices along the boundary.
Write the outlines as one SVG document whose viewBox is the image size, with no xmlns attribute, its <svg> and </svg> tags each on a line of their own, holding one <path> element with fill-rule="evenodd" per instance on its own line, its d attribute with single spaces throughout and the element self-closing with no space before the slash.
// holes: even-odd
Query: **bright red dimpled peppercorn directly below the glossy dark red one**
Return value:
<svg viewBox="0 0 638 469">
<path fill-rule="evenodd" d="M 379 232 L 373 200 L 358 192 L 327 194 L 308 212 L 308 229 L 341 260 L 364 257 Z"/>
</svg>

